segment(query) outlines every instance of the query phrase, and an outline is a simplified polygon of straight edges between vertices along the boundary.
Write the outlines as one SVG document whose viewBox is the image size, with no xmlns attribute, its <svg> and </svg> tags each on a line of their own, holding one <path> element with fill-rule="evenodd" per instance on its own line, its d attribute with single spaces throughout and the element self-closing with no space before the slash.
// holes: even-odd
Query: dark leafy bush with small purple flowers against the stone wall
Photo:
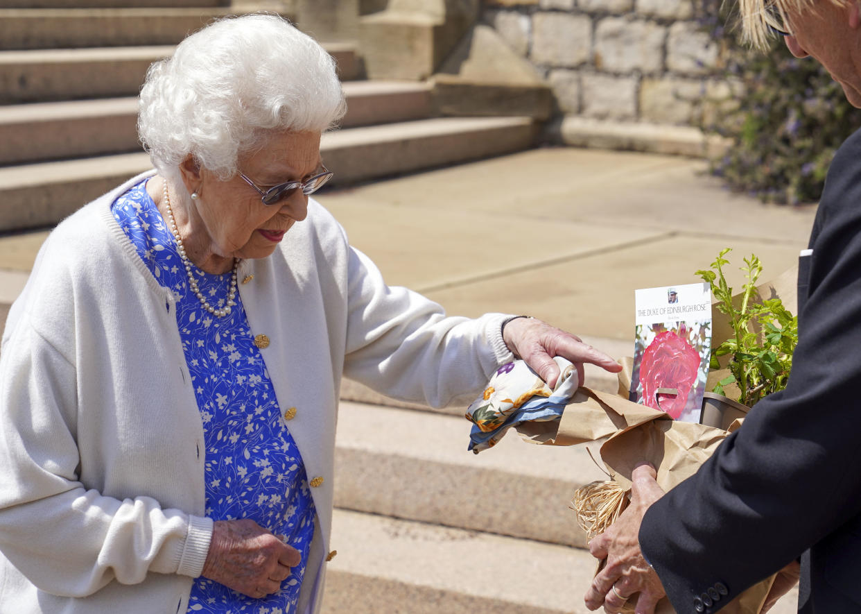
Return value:
<svg viewBox="0 0 861 614">
<path fill-rule="evenodd" d="M 728 138 L 729 151 L 711 160 L 728 186 L 763 202 L 817 202 L 839 146 L 861 127 L 839 84 L 815 59 L 796 59 L 776 36 L 766 52 L 742 47 L 722 0 L 701 0 L 703 28 L 719 41 L 724 74 L 738 84 L 737 105 L 718 107 L 703 125 Z"/>
</svg>

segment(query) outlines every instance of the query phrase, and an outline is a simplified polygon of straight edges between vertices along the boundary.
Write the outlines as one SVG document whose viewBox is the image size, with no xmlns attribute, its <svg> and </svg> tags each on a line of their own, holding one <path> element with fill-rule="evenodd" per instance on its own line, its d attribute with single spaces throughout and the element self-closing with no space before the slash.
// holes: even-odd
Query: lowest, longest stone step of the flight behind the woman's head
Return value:
<svg viewBox="0 0 861 614">
<path fill-rule="evenodd" d="M 345 184 L 527 149 L 534 135 L 530 118 L 438 118 L 328 133 L 321 149 Z M 0 168 L 0 232 L 53 226 L 148 168 L 146 153 Z"/>
</svg>

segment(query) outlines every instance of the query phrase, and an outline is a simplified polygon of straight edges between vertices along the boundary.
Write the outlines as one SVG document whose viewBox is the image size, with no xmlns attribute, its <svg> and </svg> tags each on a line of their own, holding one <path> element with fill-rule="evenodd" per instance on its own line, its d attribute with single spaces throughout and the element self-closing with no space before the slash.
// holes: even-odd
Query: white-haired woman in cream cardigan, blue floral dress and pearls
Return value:
<svg viewBox="0 0 861 614">
<path fill-rule="evenodd" d="M 9 313 L 0 611 L 317 611 L 344 375 L 441 405 L 515 355 L 551 384 L 549 355 L 616 370 L 538 320 L 387 287 L 308 198 L 343 111 L 329 55 L 276 16 L 152 66 L 157 171 L 60 224 Z"/>
</svg>

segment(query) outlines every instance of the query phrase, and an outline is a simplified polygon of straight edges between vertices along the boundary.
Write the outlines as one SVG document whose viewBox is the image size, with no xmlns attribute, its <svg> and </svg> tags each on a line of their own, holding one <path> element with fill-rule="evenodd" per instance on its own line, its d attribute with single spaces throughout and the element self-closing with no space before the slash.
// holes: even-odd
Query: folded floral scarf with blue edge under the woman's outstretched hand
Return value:
<svg viewBox="0 0 861 614">
<path fill-rule="evenodd" d="M 484 394 L 467 409 L 467 419 L 473 423 L 468 450 L 478 454 L 491 448 L 512 426 L 523 422 L 561 417 L 579 387 L 579 378 L 565 358 L 555 357 L 554 361 L 561 375 L 552 390 L 522 360 L 504 364 L 492 375 Z"/>
</svg>

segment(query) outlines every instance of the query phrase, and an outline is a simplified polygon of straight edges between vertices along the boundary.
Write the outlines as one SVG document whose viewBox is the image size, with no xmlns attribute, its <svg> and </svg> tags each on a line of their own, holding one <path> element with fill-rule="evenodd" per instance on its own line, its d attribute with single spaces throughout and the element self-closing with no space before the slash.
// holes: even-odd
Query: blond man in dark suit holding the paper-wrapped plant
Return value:
<svg viewBox="0 0 861 614">
<path fill-rule="evenodd" d="M 790 52 L 818 59 L 861 108 L 859 3 L 740 9 L 752 40 L 783 25 Z M 861 131 L 833 160 L 809 248 L 789 385 L 669 493 L 652 468 L 635 469 L 631 505 L 590 544 L 608 558 L 585 596 L 591 610 L 621 611 L 639 593 L 637 614 L 650 614 L 666 592 L 679 614 L 715 612 L 800 559 L 799 611 L 861 612 Z"/>
</svg>

